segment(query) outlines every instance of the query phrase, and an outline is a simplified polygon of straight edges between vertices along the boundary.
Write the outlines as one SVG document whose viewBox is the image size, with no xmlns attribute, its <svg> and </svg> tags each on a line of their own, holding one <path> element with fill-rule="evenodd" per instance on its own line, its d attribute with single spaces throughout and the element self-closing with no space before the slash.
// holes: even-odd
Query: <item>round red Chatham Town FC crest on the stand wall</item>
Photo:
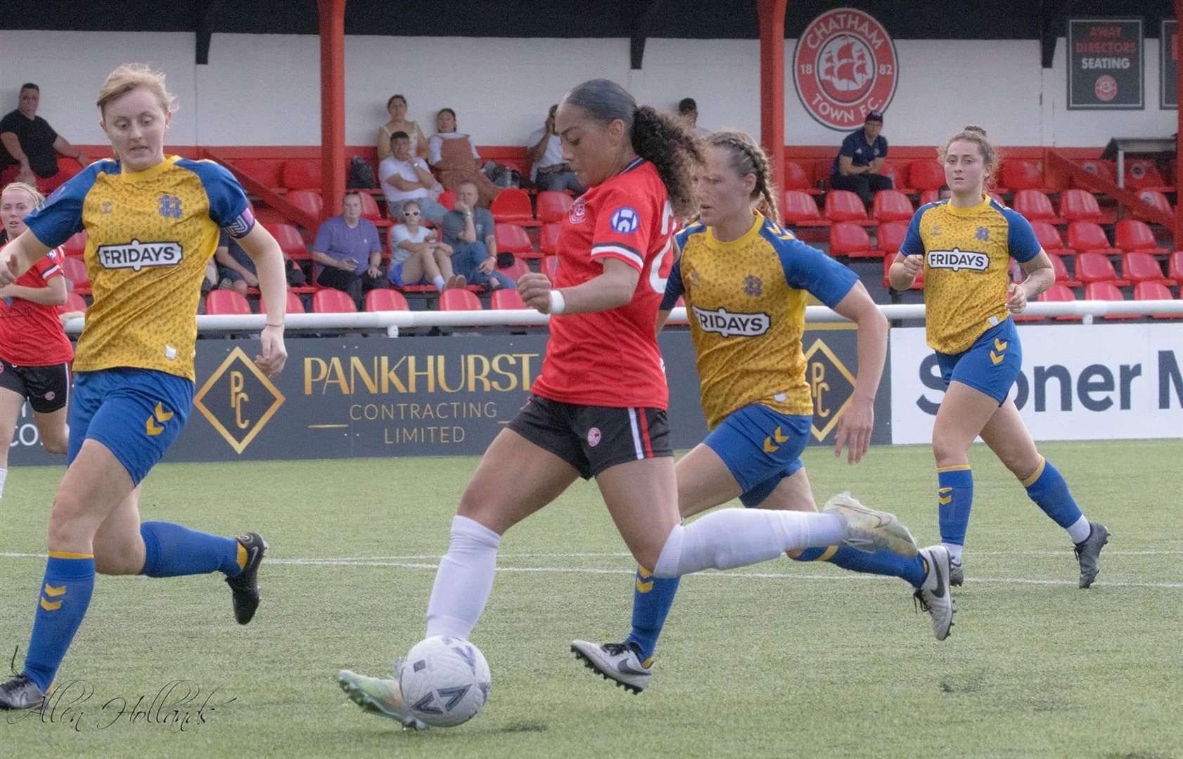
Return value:
<svg viewBox="0 0 1183 759">
<path fill-rule="evenodd" d="M 868 111 L 886 110 L 898 82 L 896 43 L 879 21 L 854 8 L 810 21 L 793 53 L 797 97 L 830 129 L 853 130 Z"/>
</svg>

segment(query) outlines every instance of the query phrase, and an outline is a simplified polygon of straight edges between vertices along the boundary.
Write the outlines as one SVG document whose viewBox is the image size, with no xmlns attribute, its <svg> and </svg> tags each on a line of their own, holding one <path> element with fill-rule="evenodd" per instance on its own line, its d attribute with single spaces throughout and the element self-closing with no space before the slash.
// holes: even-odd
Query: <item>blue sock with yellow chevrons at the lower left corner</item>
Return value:
<svg viewBox="0 0 1183 759">
<path fill-rule="evenodd" d="M 95 557 L 50 551 L 25 654 L 25 673 L 46 692 L 86 616 L 95 590 Z"/>
</svg>

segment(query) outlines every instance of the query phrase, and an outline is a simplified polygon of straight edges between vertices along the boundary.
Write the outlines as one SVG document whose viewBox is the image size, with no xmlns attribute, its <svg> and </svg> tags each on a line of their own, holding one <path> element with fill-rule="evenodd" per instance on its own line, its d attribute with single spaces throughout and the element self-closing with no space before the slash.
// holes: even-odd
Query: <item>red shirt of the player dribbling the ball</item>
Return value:
<svg viewBox="0 0 1183 759">
<path fill-rule="evenodd" d="M 575 201 L 558 233 L 555 286 L 599 277 L 608 258 L 641 277 L 623 306 L 550 319 L 547 357 L 531 388 L 536 395 L 581 406 L 667 407 L 654 327 L 673 267 L 675 226 L 665 184 L 642 158 Z"/>
</svg>

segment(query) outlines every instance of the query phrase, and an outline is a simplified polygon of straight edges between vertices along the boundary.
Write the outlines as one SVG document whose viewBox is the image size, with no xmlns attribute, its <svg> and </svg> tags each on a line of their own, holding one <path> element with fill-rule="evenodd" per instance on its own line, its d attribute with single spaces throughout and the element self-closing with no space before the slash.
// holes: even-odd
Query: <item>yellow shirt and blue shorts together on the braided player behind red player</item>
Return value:
<svg viewBox="0 0 1183 759">
<path fill-rule="evenodd" d="M 662 310 L 685 297 L 694 342 L 704 441 L 756 506 L 801 468 L 813 397 L 801 349 L 807 294 L 835 306 L 858 277 L 756 213 L 731 241 L 702 222 L 678 233 L 681 257 Z"/>
</svg>

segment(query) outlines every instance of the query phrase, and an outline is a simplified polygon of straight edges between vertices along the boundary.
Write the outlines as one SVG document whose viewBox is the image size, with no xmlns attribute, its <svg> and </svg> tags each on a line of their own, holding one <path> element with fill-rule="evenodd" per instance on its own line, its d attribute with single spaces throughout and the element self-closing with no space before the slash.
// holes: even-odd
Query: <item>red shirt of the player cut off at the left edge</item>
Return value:
<svg viewBox="0 0 1183 759">
<path fill-rule="evenodd" d="M 21 287 L 47 287 L 63 277 L 62 249 L 54 248 L 20 275 Z M 24 298 L 0 300 L 0 358 L 17 366 L 49 366 L 73 358 L 73 346 L 58 320 L 58 307 Z"/>
</svg>

